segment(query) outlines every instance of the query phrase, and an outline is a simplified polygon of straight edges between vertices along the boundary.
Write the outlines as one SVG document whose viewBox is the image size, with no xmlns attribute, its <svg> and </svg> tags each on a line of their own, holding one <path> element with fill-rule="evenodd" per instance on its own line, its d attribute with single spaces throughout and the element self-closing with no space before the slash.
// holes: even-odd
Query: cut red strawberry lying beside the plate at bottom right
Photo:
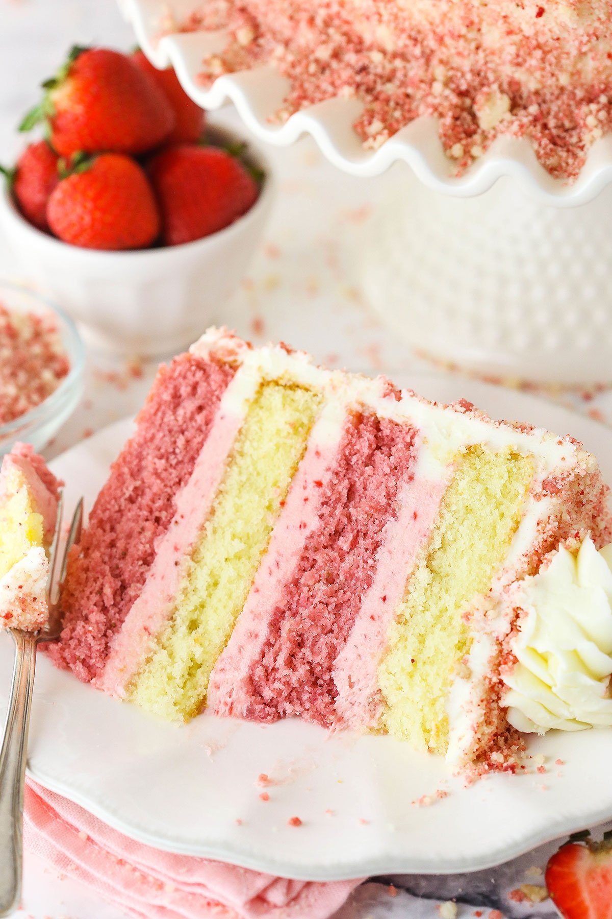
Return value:
<svg viewBox="0 0 612 919">
<path fill-rule="evenodd" d="M 551 857 L 546 886 L 563 919 L 612 919 L 612 839 L 606 836 L 601 843 L 572 837 Z"/>
</svg>

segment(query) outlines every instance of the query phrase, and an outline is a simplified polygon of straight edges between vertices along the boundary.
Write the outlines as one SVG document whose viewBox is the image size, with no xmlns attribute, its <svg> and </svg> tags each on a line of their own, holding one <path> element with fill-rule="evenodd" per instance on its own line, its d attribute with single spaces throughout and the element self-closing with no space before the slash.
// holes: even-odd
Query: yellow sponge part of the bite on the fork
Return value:
<svg viewBox="0 0 612 919">
<path fill-rule="evenodd" d="M 0 505 L 0 577 L 32 547 L 44 545 L 44 521 L 34 510 L 26 477 L 11 469 L 6 473 L 5 489 Z"/>
</svg>

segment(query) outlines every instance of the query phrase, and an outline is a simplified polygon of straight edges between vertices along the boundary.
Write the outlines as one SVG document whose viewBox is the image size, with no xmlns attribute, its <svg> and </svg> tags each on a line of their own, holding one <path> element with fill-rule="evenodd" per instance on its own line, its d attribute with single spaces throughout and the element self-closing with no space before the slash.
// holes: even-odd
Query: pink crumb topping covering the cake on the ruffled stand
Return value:
<svg viewBox="0 0 612 919">
<path fill-rule="evenodd" d="M 209 0 L 183 28 L 227 28 L 231 37 L 203 62 L 201 85 L 277 66 L 290 81 L 279 120 L 356 97 L 367 149 L 433 116 L 458 173 L 506 134 L 529 138 L 551 175 L 573 178 L 612 128 L 609 16 L 603 0 Z"/>
</svg>

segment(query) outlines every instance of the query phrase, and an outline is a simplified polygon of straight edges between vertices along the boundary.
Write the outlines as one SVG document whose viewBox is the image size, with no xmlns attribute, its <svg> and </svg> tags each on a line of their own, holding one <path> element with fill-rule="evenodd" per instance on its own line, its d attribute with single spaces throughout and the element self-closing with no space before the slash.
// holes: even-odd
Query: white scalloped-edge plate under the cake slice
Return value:
<svg viewBox="0 0 612 919">
<path fill-rule="evenodd" d="M 612 432 L 602 425 L 480 382 L 417 374 L 400 381 L 429 398 L 466 395 L 497 417 L 572 433 L 612 480 Z M 69 507 L 79 494 L 91 506 L 130 429 L 119 422 L 54 461 Z M 3 636 L 4 705 L 11 662 Z M 28 771 L 150 845 L 294 878 L 343 879 L 485 868 L 612 817 L 612 731 L 551 733 L 529 750 L 546 754 L 546 775 L 495 776 L 466 789 L 440 758 L 388 737 L 328 736 L 298 720 L 153 720 L 39 655 Z M 261 773 L 276 783 L 265 789 L 267 802 Z M 412 803 L 438 789 L 448 797 Z M 288 825 L 294 816 L 302 826 Z"/>
</svg>

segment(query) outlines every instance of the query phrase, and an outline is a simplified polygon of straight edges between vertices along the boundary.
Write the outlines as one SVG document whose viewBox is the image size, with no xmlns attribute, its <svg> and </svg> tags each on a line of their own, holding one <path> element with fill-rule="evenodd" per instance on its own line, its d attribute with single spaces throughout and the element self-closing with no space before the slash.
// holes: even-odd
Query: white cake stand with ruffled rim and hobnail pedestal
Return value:
<svg viewBox="0 0 612 919">
<path fill-rule="evenodd" d="M 373 306 L 411 346 L 503 380 L 612 380 L 612 136 L 595 143 L 572 185 L 552 178 L 528 141 L 510 138 L 457 177 L 433 119 L 375 152 L 352 129 L 355 99 L 329 99 L 279 125 L 287 83 L 272 67 L 198 84 L 226 35 L 172 32 L 194 0 L 120 3 L 150 60 L 172 63 L 202 108 L 231 100 L 254 135 L 278 146 L 311 134 L 355 176 L 411 167 L 395 168 L 358 260 Z"/>
</svg>

